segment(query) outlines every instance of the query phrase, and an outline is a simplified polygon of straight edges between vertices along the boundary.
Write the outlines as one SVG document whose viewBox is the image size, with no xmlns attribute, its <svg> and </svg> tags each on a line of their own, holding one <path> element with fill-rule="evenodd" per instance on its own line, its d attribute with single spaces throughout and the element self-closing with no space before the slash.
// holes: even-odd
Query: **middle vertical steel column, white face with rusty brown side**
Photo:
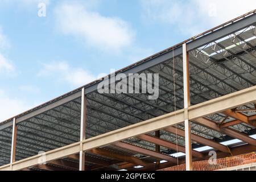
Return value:
<svg viewBox="0 0 256 182">
<path fill-rule="evenodd" d="M 80 125 L 80 153 L 79 153 L 79 171 L 85 171 L 85 152 L 82 151 L 82 140 L 85 139 L 86 131 L 86 96 L 82 88 L 81 96 L 81 125 Z"/>
</svg>

